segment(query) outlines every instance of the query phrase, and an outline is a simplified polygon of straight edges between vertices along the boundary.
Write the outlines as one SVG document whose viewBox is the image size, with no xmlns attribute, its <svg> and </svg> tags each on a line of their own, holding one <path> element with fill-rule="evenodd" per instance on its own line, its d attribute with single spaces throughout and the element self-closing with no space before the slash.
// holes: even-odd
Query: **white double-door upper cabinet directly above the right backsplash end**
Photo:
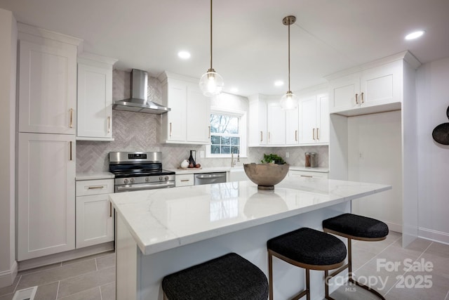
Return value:
<svg viewBox="0 0 449 300">
<path fill-rule="evenodd" d="M 300 144 L 329 143 L 327 93 L 300 98 Z"/>
</svg>

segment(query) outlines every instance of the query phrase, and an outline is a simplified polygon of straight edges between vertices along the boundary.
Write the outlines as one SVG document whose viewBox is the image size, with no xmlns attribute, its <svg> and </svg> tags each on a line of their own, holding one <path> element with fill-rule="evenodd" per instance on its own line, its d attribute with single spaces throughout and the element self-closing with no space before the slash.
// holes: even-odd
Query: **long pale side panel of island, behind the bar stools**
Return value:
<svg viewBox="0 0 449 300">
<path fill-rule="evenodd" d="M 322 230 L 323 219 L 350 211 L 350 202 L 336 204 L 316 211 L 262 224 L 253 228 L 194 242 L 140 257 L 139 300 L 162 300 L 161 280 L 165 275 L 194 266 L 215 257 L 236 252 L 258 266 L 268 275 L 267 240 L 301 227 Z M 274 259 L 274 298 L 289 299 L 304 288 L 304 269 Z M 323 271 L 311 271 L 311 293 L 314 299 L 324 296 Z M 344 273 L 342 273 L 344 276 Z M 330 287 L 332 292 L 337 287 Z M 320 296 L 316 297 L 316 296 Z M 135 299 L 135 298 L 128 298 Z M 117 298 L 117 300 L 121 300 Z"/>
</svg>

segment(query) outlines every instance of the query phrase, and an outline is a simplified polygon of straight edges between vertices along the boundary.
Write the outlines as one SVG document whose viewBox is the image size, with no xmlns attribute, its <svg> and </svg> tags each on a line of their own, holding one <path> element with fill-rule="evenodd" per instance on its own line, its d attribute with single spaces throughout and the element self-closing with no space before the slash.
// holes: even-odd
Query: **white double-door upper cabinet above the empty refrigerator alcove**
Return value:
<svg viewBox="0 0 449 300">
<path fill-rule="evenodd" d="M 401 109 L 404 60 L 419 65 L 404 52 L 328 76 L 330 113 L 353 116 Z"/>
</svg>

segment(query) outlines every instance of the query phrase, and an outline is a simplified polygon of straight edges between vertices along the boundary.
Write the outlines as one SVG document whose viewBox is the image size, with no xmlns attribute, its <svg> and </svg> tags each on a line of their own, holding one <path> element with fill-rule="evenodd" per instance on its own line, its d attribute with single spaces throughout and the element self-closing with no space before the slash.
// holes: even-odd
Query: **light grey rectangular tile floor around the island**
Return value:
<svg viewBox="0 0 449 300">
<path fill-rule="evenodd" d="M 25 270 L 13 286 L 0 289 L 0 300 L 13 299 L 17 289 L 38 285 L 34 300 L 114 300 L 114 253 Z M 396 264 L 397 268 L 394 268 Z M 422 270 L 430 268 L 431 270 Z M 401 234 L 391 232 L 380 242 L 353 242 L 354 274 L 370 280 L 388 300 L 449 300 L 449 245 L 417 239 L 401 247 Z M 404 270 L 405 267 L 410 267 Z M 427 277 L 426 277 L 427 276 Z M 335 299 L 376 299 L 360 287 L 343 285 Z"/>
</svg>

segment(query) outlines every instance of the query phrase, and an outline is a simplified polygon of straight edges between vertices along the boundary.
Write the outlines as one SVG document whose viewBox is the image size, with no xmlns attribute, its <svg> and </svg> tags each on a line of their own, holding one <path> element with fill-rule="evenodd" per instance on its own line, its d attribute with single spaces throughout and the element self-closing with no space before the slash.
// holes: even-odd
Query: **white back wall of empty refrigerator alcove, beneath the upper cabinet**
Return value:
<svg viewBox="0 0 449 300">
<path fill-rule="evenodd" d="M 348 118 L 348 180 L 393 188 L 352 202 L 352 212 L 402 232 L 401 111 Z"/>
</svg>

